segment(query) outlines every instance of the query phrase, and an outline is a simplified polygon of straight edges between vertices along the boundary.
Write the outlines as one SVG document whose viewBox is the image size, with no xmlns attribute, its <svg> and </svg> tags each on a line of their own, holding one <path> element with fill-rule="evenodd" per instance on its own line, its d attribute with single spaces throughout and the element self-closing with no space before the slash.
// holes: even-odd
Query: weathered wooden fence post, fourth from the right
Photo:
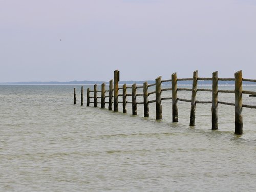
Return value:
<svg viewBox="0 0 256 192">
<path fill-rule="evenodd" d="M 177 96 L 177 74 L 172 74 L 172 100 L 173 100 L 173 122 L 178 122 L 178 96 Z"/>
</svg>

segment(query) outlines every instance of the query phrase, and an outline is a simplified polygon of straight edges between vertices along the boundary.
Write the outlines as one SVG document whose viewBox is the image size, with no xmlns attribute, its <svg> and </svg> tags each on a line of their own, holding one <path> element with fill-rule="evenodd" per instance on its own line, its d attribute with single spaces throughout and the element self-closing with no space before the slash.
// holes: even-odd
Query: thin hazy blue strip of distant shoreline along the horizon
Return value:
<svg viewBox="0 0 256 192">
<path fill-rule="evenodd" d="M 42 82 L 42 81 L 31 81 L 31 82 L 4 82 L 4 83 L 0 83 L 0 84 L 46 84 L 46 85 L 51 85 L 51 84 L 101 84 L 105 82 L 106 84 L 108 84 L 108 82 L 106 81 L 68 81 L 68 82 L 59 82 L 59 81 L 47 81 L 47 82 Z M 119 81 L 120 84 L 143 84 L 145 81 Z M 152 84 L 155 83 L 154 80 L 148 80 L 147 81 L 148 84 Z M 198 81 L 198 84 L 211 84 L 212 81 Z M 169 82 L 163 82 L 163 84 L 170 84 Z M 179 81 L 178 84 L 192 84 L 192 81 Z M 220 81 L 219 84 L 234 84 L 234 81 Z M 256 84 L 255 82 L 243 82 L 243 84 Z"/>
</svg>

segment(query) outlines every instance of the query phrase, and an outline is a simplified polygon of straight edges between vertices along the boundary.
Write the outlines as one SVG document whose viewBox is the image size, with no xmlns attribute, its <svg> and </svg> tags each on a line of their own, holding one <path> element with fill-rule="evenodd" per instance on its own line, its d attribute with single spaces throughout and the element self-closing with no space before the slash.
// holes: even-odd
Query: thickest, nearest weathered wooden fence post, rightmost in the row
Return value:
<svg viewBox="0 0 256 192">
<path fill-rule="evenodd" d="M 235 94 L 235 129 L 234 134 L 242 135 L 243 134 L 243 78 L 242 78 L 242 71 L 238 71 L 234 74 L 234 94 Z"/>
</svg>

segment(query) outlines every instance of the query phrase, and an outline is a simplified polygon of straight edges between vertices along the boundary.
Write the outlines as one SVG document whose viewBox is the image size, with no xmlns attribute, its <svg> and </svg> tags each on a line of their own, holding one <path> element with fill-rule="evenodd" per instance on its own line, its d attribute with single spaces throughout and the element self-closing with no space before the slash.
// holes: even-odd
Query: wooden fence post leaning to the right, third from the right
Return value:
<svg viewBox="0 0 256 192">
<path fill-rule="evenodd" d="M 193 75 L 193 88 L 192 88 L 192 96 L 191 96 L 191 109 L 190 109 L 190 123 L 189 126 L 195 126 L 196 119 L 196 96 L 197 96 L 197 79 L 198 79 L 198 71 L 194 71 Z"/>
</svg>

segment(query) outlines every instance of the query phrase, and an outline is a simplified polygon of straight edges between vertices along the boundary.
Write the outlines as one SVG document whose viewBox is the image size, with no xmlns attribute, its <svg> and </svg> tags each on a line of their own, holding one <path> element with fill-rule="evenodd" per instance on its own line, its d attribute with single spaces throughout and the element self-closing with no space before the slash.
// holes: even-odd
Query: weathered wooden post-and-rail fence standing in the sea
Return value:
<svg viewBox="0 0 256 192">
<path fill-rule="evenodd" d="M 177 81 L 193 81 L 192 89 L 187 88 L 178 88 L 177 87 Z M 197 84 L 199 80 L 211 80 L 212 81 L 212 89 L 197 89 Z M 230 90 L 218 90 L 218 82 L 219 81 L 234 81 L 234 91 Z M 143 86 L 137 86 L 136 83 L 134 83 L 131 87 L 126 86 L 126 84 L 123 84 L 122 87 L 119 87 L 119 71 L 114 71 L 114 87 L 113 87 L 113 80 L 110 80 L 109 82 L 109 90 L 105 90 L 105 83 L 101 84 L 101 91 L 97 90 L 97 84 L 94 85 L 94 90 L 90 90 L 90 88 L 87 89 L 87 106 L 90 105 L 90 103 L 94 103 L 94 106 L 97 107 L 98 104 L 101 104 L 101 109 L 105 108 L 105 104 L 109 104 L 108 108 L 109 110 L 113 109 L 114 105 L 114 111 L 118 112 L 118 103 L 122 103 L 122 111 L 123 113 L 126 113 L 126 104 L 132 104 L 132 114 L 137 115 L 137 104 L 143 104 L 144 105 L 144 117 L 148 117 L 149 115 L 149 108 L 148 104 L 150 103 L 156 103 L 156 119 L 162 119 L 162 100 L 172 100 L 172 116 L 173 116 L 173 122 L 178 122 L 178 101 L 183 102 L 190 102 L 191 108 L 190 108 L 190 126 L 195 126 L 195 118 L 196 118 L 196 104 L 197 103 L 211 103 L 211 129 L 212 130 L 218 130 L 218 104 L 225 104 L 225 105 L 233 105 L 235 108 L 235 131 L 234 134 L 241 135 L 243 134 L 243 116 L 242 116 L 242 110 L 243 108 L 251 108 L 256 109 L 256 106 L 254 105 L 247 105 L 243 104 L 242 95 L 243 94 L 250 94 L 250 95 L 256 95 L 256 92 L 252 91 L 244 91 L 242 88 L 242 82 L 243 81 L 250 81 L 250 82 L 256 82 L 255 79 L 244 79 L 242 78 L 242 71 L 238 71 L 234 74 L 234 78 L 219 78 L 218 77 L 218 71 L 212 73 L 211 78 L 201 78 L 198 77 L 198 71 L 194 71 L 193 78 L 177 78 L 177 74 L 172 74 L 172 79 L 162 80 L 161 76 L 156 78 L 156 82 L 153 84 L 148 84 L 147 82 L 143 83 Z M 162 89 L 161 85 L 163 82 L 172 82 L 172 88 L 166 88 Z M 148 92 L 149 87 L 155 86 L 155 91 Z M 132 89 L 132 94 L 127 94 L 126 90 Z M 143 94 L 137 94 L 137 89 L 143 89 Z M 122 94 L 119 94 L 119 90 L 122 90 Z M 161 97 L 161 93 L 164 91 L 172 91 L 172 97 Z M 188 99 L 182 99 L 178 98 L 178 91 L 190 91 L 191 92 L 191 100 Z M 211 101 L 198 101 L 196 100 L 197 92 L 198 91 L 206 91 L 206 92 L 212 92 L 212 100 Z M 90 96 L 90 93 L 94 93 L 94 96 Z M 106 93 L 109 92 L 108 95 Z M 101 93 L 101 96 L 98 97 L 97 93 Z M 113 95 L 114 93 L 114 95 Z M 234 103 L 229 102 L 223 102 L 218 101 L 218 93 L 234 93 L 235 94 L 235 101 Z M 148 100 L 148 96 L 155 94 L 154 100 Z M 132 96 L 132 102 L 127 101 L 126 98 L 128 96 Z M 143 102 L 137 102 L 137 96 L 143 96 Z M 122 101 L 119 101 L 119 97 L 122 97 Z M 94 99 L 94 101 L 91 101 L 90 99 Z M 100 102 L 98 102 L 98 99 L 100 99 Z M 106 101 L 108 99 L 108 101 Z M 114 101 L 113 101 L 114 99 Z M 81 89 L 81 105 L 83 101 L 83 87 Z M 74 103 L 76 103 L 76 95 L 75 95 L 75 88 L 74 88 Z"/>
</svg>

